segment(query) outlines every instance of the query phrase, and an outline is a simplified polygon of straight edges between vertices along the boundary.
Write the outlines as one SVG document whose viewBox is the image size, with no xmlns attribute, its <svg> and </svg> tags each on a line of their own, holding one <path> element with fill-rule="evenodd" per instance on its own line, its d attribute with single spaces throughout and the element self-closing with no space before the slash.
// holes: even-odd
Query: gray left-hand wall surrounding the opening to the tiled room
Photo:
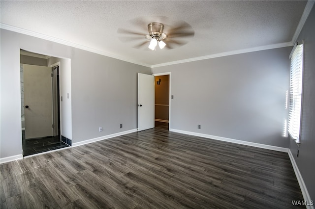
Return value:
<svg viewBox="0 0 315 209">
<path fill-rule="evenodd" d="M 1 29 L 0 158 L 22 154 L 20 49 L 71 59 L 72 142 L 137 128 L 137 72 L 151 69 Z M 123 129 L 119 124 L 123 123 Z M 103 126 L 104 131 L 98 132 Z"/>
</svg>

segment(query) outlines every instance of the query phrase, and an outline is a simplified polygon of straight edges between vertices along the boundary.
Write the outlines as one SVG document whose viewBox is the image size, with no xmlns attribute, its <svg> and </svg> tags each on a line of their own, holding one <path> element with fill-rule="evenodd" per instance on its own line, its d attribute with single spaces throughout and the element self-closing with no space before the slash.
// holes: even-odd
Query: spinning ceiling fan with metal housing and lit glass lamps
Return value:
<svg viewBox="0 0 315 209">
<path fill-rule="evenodd" d="M 148 24 L 148 33 L 135 32 L 123 28 L 118 29 L 119 34 L 125 36 L 120 37 L 123 42 L 138 41 L 139 39 L 145 39 L 140 44 L 133 46 L 134 48 L 141 48 L 145 45 L 152 51 L 157 50 L 157 46 L 160 49 L 164 47 L 166 49 L 173 49 L 177 46 L 182 46 L 188 43 L 183 38 L 193 37 L 194 31 L 192 27 L 186 22 L 180 22 L 176 26 L 166 26 L 158 22 L 152 22 Z M 140 40 L 139 40 L 140 41 Z M 148 42 L 150 41 L 150 44 Z"/>
</svg>

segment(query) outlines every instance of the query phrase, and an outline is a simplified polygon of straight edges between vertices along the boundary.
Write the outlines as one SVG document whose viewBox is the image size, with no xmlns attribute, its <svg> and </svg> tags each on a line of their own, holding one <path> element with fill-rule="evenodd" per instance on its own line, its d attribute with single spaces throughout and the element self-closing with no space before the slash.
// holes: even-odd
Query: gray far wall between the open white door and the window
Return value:
<svg viewBox="0 0 315 209">
<path fill-rule="evenodd" d="M 171 72 L 171 129 L 288 147 L 291 47 L 156 67 Z M 201 129 L 197 129 L 197 125 Z"/>
</svg>

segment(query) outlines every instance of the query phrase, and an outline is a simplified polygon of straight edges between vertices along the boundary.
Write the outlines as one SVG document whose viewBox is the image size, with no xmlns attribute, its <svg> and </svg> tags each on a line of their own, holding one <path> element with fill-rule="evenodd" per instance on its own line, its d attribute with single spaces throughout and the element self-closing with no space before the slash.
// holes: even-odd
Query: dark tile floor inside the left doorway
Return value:
<svg viewBox="0 0 315 209">
<path fill-rule="evenodd" d="M 23 156 L 30 156 L 37 153 L 43 153 L 56 150 L 69 145 L 60 140 L 60 136 L 25 139 L 25 131 L 22 131 Z"/>
</svg>

